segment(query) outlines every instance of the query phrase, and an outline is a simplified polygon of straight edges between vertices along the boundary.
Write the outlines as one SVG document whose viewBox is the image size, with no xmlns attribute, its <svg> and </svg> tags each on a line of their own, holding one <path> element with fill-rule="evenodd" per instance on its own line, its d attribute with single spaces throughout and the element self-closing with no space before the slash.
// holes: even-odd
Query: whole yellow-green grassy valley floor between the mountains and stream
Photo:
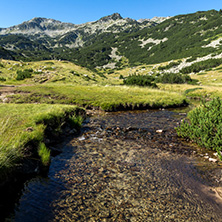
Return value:
<svg viewBox="0 0 222 222">
<path fill-rule="evenodd" d="M 3 60 L 1 64 L 1 181 L 7 180 L 26 159 L 37 159 L 43 168 L 49 166 L 48 148 L 40 152 L 40 147 L 47 146 L 48 134 L 51 133 L 50 138 L 59 138 L 62 131 L 70 132 L 70 128 L 79 127 L 82 121 L 79 115 L 85 116 L 85 111 L 77 106 L 88 113 L 95 110 L 151 110 L 187 106 L 190 98 L 222 98 L 222 75 L 218 69 L 193 75 L 199 80 L 198 85 L 158 83 L 158 89 L 151 89 L 124 86 L 122 77 L 132 73 L 147 74 L 153 66 L 126 68 L 107 74 L 106 70 L 92 72 L 67 61 L 22 63 Z M 31 73 L 32 77 L 16 80 L 18 73 Z M 71 125 L 66 127 L 67 123 Z M 181 149 L 184 151 L 183 147 Z M 125 151 L 131 152 L 128 148 Z M 157 151 L 150 153 L 151 156 L 157 154 Z"/>
</svg>

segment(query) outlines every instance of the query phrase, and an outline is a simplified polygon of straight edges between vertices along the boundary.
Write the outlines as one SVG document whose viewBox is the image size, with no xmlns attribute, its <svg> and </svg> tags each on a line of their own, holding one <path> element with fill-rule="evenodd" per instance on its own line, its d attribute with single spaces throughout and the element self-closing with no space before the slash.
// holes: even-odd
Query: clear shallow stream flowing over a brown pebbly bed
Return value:
<svg viewBox="0 0 222 222">
<path fill-rule="evenodd" d="M 79 137 L 58 145 L 48 176 L 25 184 L 10 220 L 222 221 L 215 189 L 222 167 L 177 137 L 184 117 L 169 110 L 91 117 Z"/>
</svg>

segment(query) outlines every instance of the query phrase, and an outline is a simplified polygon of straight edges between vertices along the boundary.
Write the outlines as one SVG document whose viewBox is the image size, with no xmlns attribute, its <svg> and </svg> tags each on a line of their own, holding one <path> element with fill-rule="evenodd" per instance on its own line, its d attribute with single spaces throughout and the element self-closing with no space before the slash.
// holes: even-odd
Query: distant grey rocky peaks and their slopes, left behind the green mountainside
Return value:
<svg viewBox="0 0 222 222">
<path fill-rule="evenodd" d="M 62 23 L 53 19 L 33 18 L 20 25 L 0 29 L 0 46 L 12 51 L 15 59 L 67 59 L 70 54 L 74 58 L 76 56 L 73 54 L 76 51 L 78 53 L 82 47 L 92 45 L 102 34 L 135 32 L 157 25 L 158 21 L 154 20 L 155 22 L 149 19 L 139 22 L 122 18 L 118 13 L 80 25 Z M 70 52 L 69 49 L 74 50 Z M 1 57 L 4 58 L 4 55 Z"/>
</svg>

